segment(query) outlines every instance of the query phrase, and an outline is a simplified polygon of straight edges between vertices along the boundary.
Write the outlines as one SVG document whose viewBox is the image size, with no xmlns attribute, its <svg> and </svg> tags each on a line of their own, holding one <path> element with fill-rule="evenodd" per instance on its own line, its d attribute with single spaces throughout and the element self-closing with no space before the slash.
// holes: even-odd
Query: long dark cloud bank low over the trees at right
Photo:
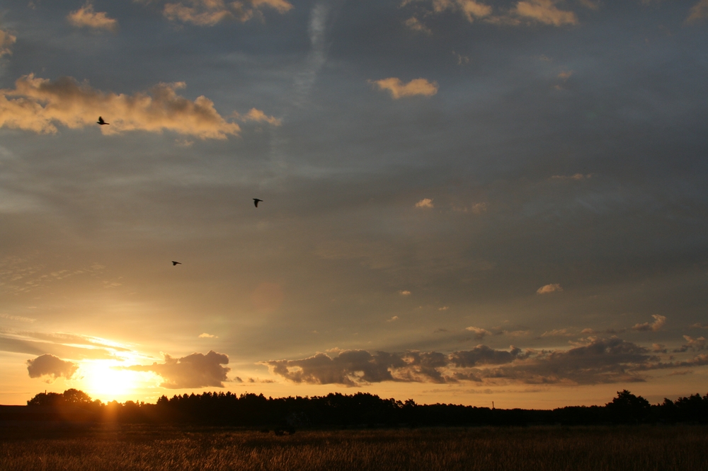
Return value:
<svg viewBox="0 0 708 471">
<path fill-rule="evenodd" d="M 708 356 L 707 356 L 708 357 Z M 654 353 L 617 337 L 587 339 L 586 344 L 569 350 L 516 347 L 497 350 L 478 345 L 472 350 L 439 352 L 406 351 L 387 353 L 365 350 L 341 351 L 336 358 L 316 354 L 299 360 L 271 360 L 261 364 L 270 373 L 294 383 L 343 384 L 348 386 L 382 381 L 418 383 L 600 384 L 642 381 L 641 371 L 696 365 L 690 362 L 662 364 Z M 707 360 L 708 361 L 708 360 Z"/>
</svg>

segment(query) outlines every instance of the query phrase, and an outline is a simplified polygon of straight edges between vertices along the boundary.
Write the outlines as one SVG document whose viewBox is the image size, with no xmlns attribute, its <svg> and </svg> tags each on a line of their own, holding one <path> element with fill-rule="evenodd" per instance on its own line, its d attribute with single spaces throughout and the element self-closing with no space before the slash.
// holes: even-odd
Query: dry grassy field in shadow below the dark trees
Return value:
<svg viewBox="0 0 708 471">
<path fill-rule="evenodd" d="M 704 426 L 0 429 L 14 470 L 708 470 Z"/>
</svg>

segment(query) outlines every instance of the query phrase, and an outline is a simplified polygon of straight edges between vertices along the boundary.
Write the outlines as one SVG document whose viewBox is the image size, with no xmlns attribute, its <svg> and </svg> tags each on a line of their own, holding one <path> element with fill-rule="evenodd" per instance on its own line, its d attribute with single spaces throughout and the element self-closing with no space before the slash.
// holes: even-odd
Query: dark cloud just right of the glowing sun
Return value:
<svg viewBox="0 0 708 471">
<path fill-rule="evenodd" d="M 206 355 L 193 353 L 178 359 L 169 354 L 164 356 L 164 364 L 155 362 L 152 365 L 125 366 L 121 369 L 152 371 L 164 379 L 160 386 L 168 389 L 206 388 L 207 386 L 223 388 L 222 381 L 227 380 L 227 373 L 231 371 L 231 368 L 222 366 L 229 364 L 229 356 L 213 350 Z"/>
</svg>

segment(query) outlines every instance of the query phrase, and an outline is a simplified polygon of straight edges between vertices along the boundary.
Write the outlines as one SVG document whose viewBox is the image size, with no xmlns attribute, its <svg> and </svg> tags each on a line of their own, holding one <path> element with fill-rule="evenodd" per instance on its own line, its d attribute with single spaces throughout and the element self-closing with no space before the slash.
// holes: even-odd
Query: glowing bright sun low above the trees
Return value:
<svg viewBox="0 0 708 471">
<path fill-rule="evenodd" d="M 120 366 L 120 361 L 85 360 L 81 364 L 84 392 L 103 401 L 118 400 L 119 397 L 135 392 L 140 380 L 139 374 L 116 366 Z"/>
</svg>

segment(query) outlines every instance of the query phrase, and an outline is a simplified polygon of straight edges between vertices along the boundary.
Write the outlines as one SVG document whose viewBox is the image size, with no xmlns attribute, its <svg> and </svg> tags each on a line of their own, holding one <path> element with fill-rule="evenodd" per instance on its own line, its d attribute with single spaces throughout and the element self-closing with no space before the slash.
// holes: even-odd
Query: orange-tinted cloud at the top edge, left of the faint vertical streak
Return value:
<svg viewBox="0 0 708 471">
<path fill-rule="evenodd" d="M 225 20 L 249 21 L 260 15 L 263 7 L 285 13 L 290 11 L 292 4 L 286 0 L 183 0 L 166 3 L 162 13 L 170 21 L 213 26 Z"/>
</svg>

